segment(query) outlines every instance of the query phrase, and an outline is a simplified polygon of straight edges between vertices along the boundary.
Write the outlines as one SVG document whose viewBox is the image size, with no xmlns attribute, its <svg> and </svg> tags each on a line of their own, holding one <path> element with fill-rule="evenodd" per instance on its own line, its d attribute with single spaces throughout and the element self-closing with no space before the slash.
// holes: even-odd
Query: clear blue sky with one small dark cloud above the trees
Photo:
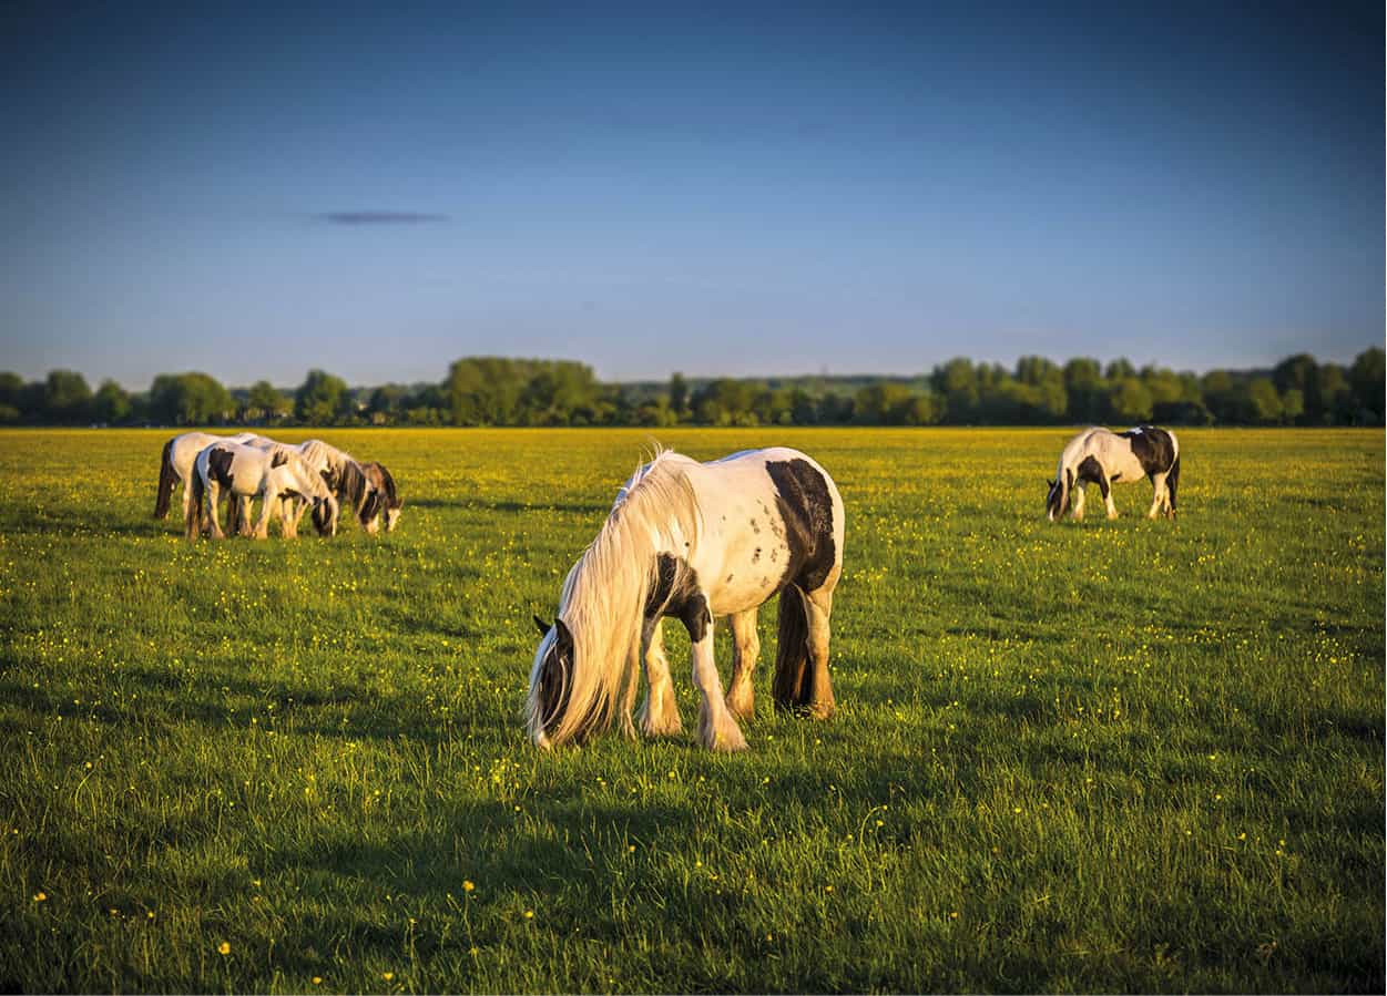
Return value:
<svg viewBox="0 0 1387 996">
<path fill-rule="evenodd" d="M 1383 342 L 1380 4 L 352 10 L 0 8 L 0 368 Z"/>
</svg>

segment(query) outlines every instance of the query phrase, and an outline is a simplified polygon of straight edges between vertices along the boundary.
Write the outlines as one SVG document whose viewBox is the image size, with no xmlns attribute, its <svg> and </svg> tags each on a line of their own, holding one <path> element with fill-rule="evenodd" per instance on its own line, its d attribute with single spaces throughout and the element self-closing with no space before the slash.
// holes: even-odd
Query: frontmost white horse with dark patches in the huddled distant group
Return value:
<svg viewBox="0 0 1387 996">
<path fill-rule="evenodd" d="M 216 521 L 216 503 L 222 490 L 227 493 L 232 507 L 243 499 L 261 499 L 255 539 L 265 539 L 269 535 L 269 518 L 275 508 L 282 508 L 283 497 L 301 497 L 311 503 L 313 525 L 320 536 L 337 533 L 337 499 L 327 490 L 322 477 L 300 457 L 223 441 L 205 447 L 194 461 L 193 493 L 186 521 L 189 540 L 196 540 L 203 532 L 204 497 L 212 537 L 225 537 Z M 298 535 L 295 518 L 283 515 L 282 524 L 284 536 Z"/>
</svg>

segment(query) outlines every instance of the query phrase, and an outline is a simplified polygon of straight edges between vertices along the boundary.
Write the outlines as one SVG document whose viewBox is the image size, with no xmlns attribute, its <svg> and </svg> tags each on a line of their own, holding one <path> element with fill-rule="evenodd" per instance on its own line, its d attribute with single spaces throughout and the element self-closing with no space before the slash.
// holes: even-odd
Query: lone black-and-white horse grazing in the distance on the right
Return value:
<svg viewBox="0 0 1387 996">
<path fill-rule="evenodd" d="M 1173 432 L 1154 425 L 1140 425 L 1126 432 L 1103 428 L 1085 429 L 1068 442 L 1060 453 L 1060 467 L 1046 497 L 1046 514 L 1054 522 L 1074 507 L 1074 518 L 1083 518 L 1083 489 L 1096 483 L 1108 507 L 1108 518 L 1117 518 L 1112 504 L 1112 483 L 1151 481 L 1151 508 L 1147 518 L 1162 513 L 1175 518 L 1175 490 L 1180 483 L 1180 443 Z"/>
</svg>

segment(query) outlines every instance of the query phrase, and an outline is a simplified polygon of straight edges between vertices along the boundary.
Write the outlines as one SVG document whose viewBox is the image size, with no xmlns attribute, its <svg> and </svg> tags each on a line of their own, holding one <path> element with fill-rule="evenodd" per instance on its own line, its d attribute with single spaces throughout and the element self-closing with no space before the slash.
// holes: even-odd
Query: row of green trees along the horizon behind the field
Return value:
<svg viewBox="0 0 1387 996">
<path fill-rule="evenodd" d="M 312 370 L 293 391 L 229 389 L 204 373 L 160 374 L 144 392 L 96 391 L 72 370 L 25 382 L 0 373 L 11 425 L 1381 425 L 1383 350 L 1350 364 L 1297 353 L 1270 370 L 1176 373 L 953 359 L 915 377 L 685 378 L 603 384 L 570 360 L 473 356 L 441 382 L 350 388 Z"/>
</svg>

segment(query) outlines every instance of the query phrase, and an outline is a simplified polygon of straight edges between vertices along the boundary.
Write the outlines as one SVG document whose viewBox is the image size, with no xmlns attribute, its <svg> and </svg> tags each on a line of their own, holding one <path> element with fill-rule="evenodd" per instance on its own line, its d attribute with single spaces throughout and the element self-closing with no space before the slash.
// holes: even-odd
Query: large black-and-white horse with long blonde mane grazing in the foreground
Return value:
<svg viewBox="0 0 1387 996">
<path fill-rule="evenodd" d="M 753 715 L 756 611 L 779 594 L 777 706 L 827 719 L 828 616 L 843 568 L 843 503 L 817 463 L 792 449 L 734 453 L 700 464 L 662 452 L 626 482 L 596 539 L 569 571 L 553 625 L 534 655 L 527 702 L 540 747 L 581 740 L 613 718 L 635 734 L 631 705 L 645 664 L 641 730 L 674 734 L 680 712 L 660 640 L 674 616 L 692 643 L 705 747 L 736 751 L 736 716 Z M 732 629 L 723 700 L 713 619 Z"/>
</svg>

